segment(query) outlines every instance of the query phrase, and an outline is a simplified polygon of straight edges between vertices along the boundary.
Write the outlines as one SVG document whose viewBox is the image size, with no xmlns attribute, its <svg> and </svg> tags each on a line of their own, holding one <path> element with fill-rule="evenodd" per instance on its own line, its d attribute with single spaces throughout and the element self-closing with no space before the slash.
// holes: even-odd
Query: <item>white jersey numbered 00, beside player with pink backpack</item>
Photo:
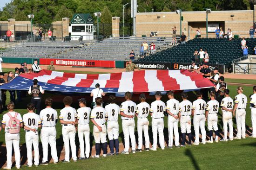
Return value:
<svg viewBox="0 0 256 170">
<path fill-rule="evenodd" d="M 36 113 L 26 113 L 23 115 L 24 125 L 31 129 L 38 129 L 38 125 L 40 125 L 41 119 Z"/>
</svg>

